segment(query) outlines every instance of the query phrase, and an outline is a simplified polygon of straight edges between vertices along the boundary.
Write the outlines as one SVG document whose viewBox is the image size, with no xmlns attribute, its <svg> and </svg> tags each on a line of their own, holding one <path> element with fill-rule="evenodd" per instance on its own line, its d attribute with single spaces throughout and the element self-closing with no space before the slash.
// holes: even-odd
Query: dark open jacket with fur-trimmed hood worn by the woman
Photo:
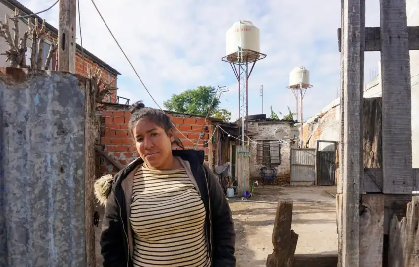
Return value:
<svg viewBox="0 0 419 267">
<path fill-rule="evenodd" d="M 231 210 L 218 179 L 204 164 L 204 151 L 173 150 L 172 153 L 183 162 L 186 171 L 195 179 L 204 203 L 212 267 L 235 267 L 235 231 Z M 133 173 L 142 163 L 142 159 L 138 158 L 115 177 L 103 176 L 95 183 L 96 198 L 106 205 L 100 241 L 104 267 L 133 266 L 129 201 Z"/>
</svg>

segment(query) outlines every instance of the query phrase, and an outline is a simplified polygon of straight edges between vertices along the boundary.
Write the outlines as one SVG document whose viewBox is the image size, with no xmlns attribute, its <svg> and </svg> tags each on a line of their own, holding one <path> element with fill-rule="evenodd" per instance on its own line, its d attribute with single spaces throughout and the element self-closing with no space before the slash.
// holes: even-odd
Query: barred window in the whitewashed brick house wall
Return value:
<svg viewBox="0 0 419 267">
<path fill-rule="evenodd" d="M 257 162 L 265 167 L 281 164 L 281 143 L 278 140 L 257 141 Z"/>
</svg>

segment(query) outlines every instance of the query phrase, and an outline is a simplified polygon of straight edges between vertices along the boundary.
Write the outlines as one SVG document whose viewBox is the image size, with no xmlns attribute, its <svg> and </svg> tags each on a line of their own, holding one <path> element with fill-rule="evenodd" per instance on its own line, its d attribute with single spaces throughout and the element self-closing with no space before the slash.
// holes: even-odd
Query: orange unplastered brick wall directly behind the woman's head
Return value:
<svg viewBox="0 0 419 267">
<path fill-rule="evenodd" d="M 134 139 L 128 130 L 131 113 L 118 107 L 113 108 L 113 110 L 103 110 L 100 113 L 100 145 L 102 151 L 105 151 L 109 157 L 119 161 L 124 166 L 129 164 L 138 157 Z M 180 133 L 176 131 L 176 136 L 182 141 L 185 149 L 194 149 L 195 144 L 199 144 L 196 149 L 205 151 L 205 162 L 211 166 L 213 154 L 216 154 L 213 150 L 217 148 L 216 143 L 212 144 L 212 140 L 209 140 L 214 129 L 211 121 L 207 120 L 208 126 L 206 126 L 204 118 L 201 117 L 176 113 L 169 113 L 168 116 L 171 117 L 172 122 L 180 131 Z M 199 140 L 201 132 L 203 132 L 203 136 Z M 174 149 L 180 148 L 175 146 Z M 101 157 L 100 171 L 101 175 L 115 174 L 118 169 L 104 157 Z"/>
</svg>

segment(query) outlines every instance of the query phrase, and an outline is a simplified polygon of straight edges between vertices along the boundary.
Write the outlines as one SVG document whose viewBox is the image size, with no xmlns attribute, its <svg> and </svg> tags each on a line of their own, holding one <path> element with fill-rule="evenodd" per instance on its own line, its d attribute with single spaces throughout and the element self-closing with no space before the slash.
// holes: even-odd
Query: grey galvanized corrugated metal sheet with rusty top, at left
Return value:
<svg viewBox="0 0 419 267">
<path fill-rule="evenodd" d="M 84 99 L 71 74 L 1 70 L 0 267 L 86 265 Z"/>
</svg>

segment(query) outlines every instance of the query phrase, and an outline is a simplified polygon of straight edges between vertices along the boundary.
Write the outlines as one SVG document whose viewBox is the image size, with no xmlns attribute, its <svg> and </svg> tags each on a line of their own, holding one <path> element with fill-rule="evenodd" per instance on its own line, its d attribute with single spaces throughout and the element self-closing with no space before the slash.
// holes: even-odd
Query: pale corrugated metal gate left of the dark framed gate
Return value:
<svg viewBox="0 0 419 267">
<path fill-rule="evenodd" d="M 291 185 L 315 184 L 315 149 L 291 148 Z"/>
</svg>

